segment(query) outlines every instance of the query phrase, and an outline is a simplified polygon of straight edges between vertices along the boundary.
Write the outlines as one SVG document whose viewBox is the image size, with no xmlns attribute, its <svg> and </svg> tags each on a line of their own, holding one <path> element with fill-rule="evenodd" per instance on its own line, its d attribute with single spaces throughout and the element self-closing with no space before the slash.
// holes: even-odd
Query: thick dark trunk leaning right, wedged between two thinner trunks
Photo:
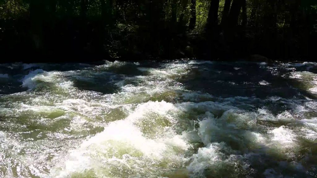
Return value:
<svg viewBox="0 0 317 178">
<path fill-rule="evenodd" d="M 231 30 L 238 24 L 240 10 L 245 0 L 233 0 L 228 17 L 228 26 Z"/>
</svg>

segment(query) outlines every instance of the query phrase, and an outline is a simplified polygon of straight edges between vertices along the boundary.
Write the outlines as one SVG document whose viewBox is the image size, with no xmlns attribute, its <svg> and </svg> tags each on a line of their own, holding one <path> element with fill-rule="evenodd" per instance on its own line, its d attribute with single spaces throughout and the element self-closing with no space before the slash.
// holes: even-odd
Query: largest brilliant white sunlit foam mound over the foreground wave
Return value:
<svg viewBox="0 0 317 178">
<path fill-rule="evenodd" d="M 175 149 L 186 151 L 190 145 L 165 123 L 175 122 L 168 114 L 175 109 L 171 103 L 164 101 L 139 105 L 126 119 L 109 123 L 104 131 L 84 141 L 79 149 L 71 150 L 63 166 L 55 168 L 52 175 L 67 177 L 92 170 L 94 176 L 113 177 L 113 173 L 120 168 L 137 175 L 156 177 L 154 175 L 161 173 L 159 168 L 164 162 L 182 164 L 185 158 L 176 154 Z M 158 127 L 159 124 L 162 127 Z M 147 125 L 150 128 L 144 128 Z M 165 130 L 168 134 L 151 137 L 147 131 L 152 129 L 155 133 Z M 171 165 L 165 166 L 170 168 Z"/>
</svg>

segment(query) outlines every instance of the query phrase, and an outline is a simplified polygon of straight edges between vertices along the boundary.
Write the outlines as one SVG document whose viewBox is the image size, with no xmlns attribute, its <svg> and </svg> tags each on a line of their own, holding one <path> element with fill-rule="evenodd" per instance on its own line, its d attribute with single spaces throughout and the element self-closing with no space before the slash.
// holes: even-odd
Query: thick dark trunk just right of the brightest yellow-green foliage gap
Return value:
<svg viewBox="0 0 317 178">
<path fill-rule="evenodd" d="M 218 25 L 218 9 L 220 0 L 211 0 L 207 19 L 207 30 L 214 31 Z"/>
</svg>

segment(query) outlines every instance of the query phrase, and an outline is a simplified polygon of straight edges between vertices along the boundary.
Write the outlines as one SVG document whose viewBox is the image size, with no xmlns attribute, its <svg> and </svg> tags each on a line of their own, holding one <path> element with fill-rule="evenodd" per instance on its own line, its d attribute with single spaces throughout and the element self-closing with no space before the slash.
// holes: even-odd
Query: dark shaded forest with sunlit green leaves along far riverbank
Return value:
<svg viewBox="0 0 317 178">
<path fill-rule="evenodd" d="M 2 61 L 314 60 L 316 40 L 315 0 L 0 0 Z"/>
</svg>

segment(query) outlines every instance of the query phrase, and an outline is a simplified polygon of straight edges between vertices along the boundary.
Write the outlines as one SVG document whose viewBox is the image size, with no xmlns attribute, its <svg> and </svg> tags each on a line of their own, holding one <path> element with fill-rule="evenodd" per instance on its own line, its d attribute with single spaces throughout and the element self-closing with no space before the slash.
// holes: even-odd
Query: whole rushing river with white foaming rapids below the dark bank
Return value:
<svg viewBox="0 0 317 178">
<path fill-rule="evenodd" d="M 0 65 L 0 177 L 317 177 L 317 63 Z"/>
</svg>

